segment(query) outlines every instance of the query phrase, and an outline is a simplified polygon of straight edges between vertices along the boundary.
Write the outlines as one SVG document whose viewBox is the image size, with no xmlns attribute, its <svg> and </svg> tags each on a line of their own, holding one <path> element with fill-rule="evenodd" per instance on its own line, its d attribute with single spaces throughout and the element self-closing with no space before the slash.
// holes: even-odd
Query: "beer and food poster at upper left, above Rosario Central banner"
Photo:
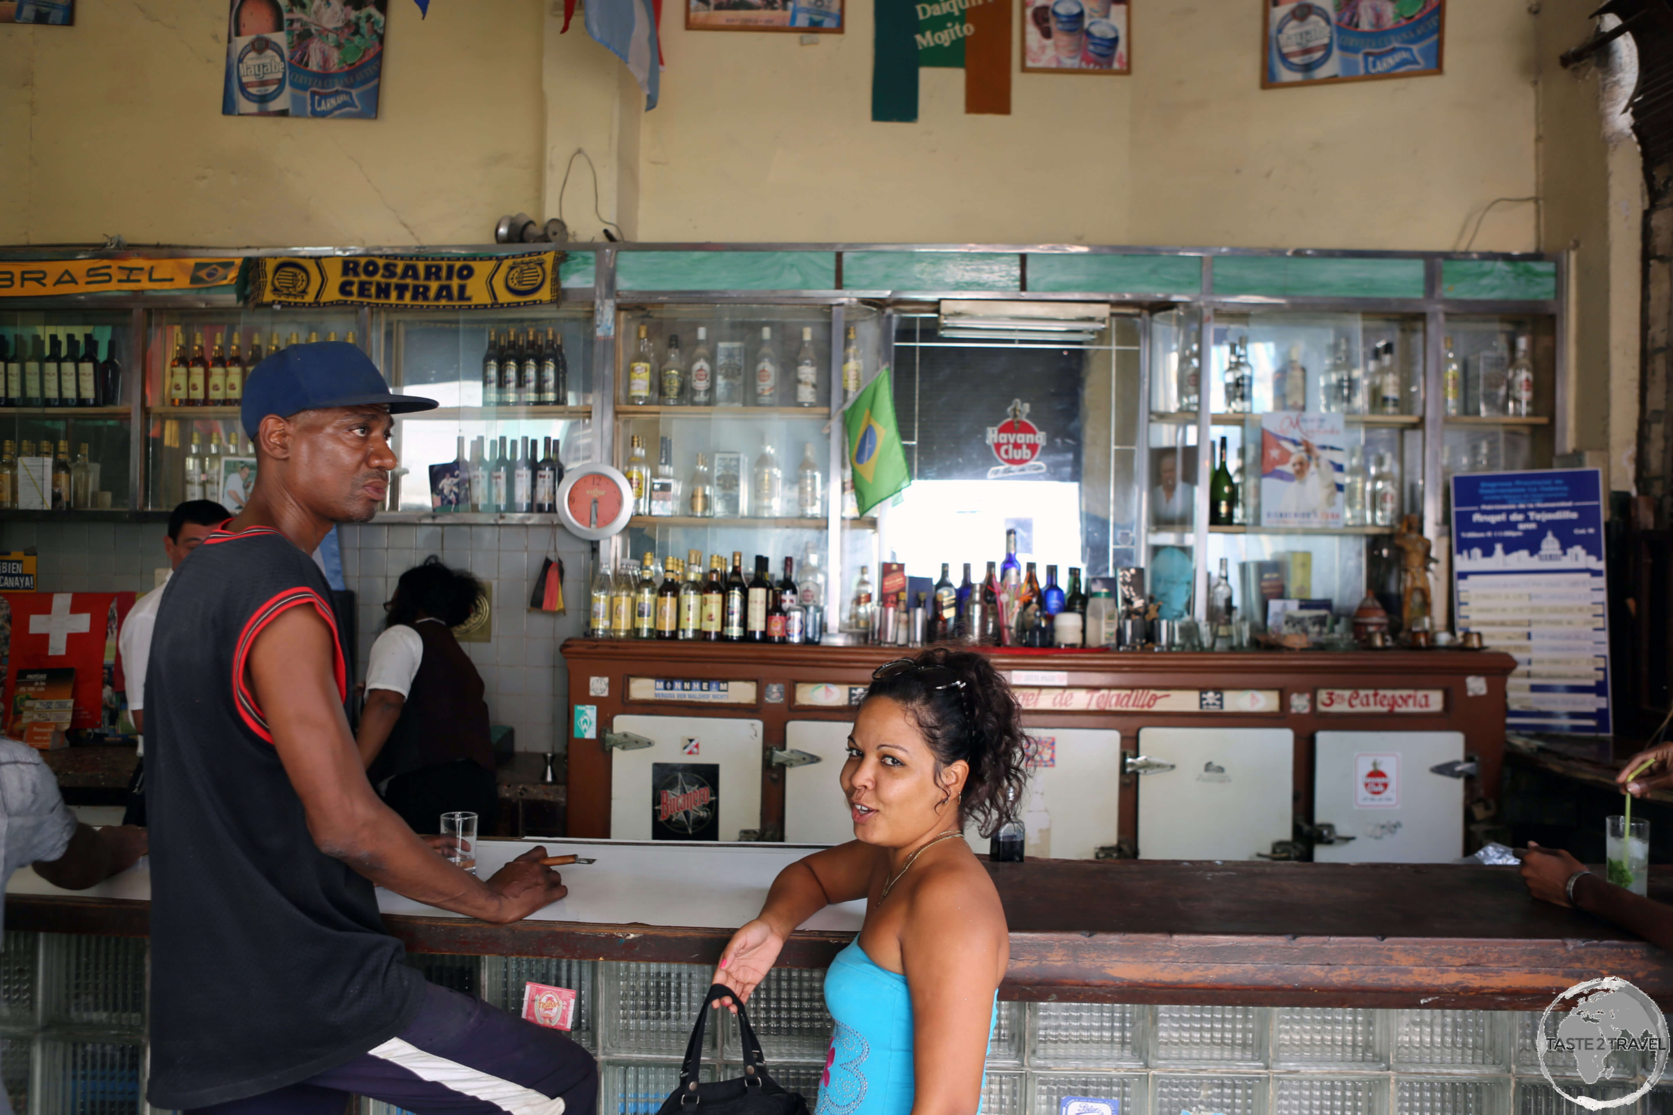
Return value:
<svg viewBox="0 0 1673 1115">
<path fill-rule="evenodd" d="M 229 0 L 221 115 L 378 115 L 388 0 Z"/>
</svg>

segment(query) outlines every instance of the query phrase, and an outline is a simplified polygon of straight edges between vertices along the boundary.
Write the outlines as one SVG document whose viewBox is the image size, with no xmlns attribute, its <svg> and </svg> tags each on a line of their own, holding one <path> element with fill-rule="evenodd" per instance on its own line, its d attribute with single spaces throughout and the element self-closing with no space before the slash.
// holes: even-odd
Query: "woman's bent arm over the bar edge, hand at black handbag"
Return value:
<svg viewBox="0 0 1673 1115">
<path fill-rule="evenodd" d="M 865 898 L 875 863 L 873 848 L 848 841 L 813 853 L 780 871 L 766 893 L 761 914 L 755 921 L 746 921 L 726 943 L 711 983 L 729 986 L 739 1001 L 748 1003 L 796 926 L 826 906 Z M 724 995 L 714 1000 L 714 1006 L 738 1013 L 731 998 Z"/>
</svg>

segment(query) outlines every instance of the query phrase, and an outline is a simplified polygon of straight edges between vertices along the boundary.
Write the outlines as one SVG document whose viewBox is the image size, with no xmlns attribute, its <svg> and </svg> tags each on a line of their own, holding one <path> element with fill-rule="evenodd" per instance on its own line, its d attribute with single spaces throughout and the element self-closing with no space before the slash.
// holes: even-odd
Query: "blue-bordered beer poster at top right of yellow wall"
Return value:
<svg viewBox="0 0 1673 1115">
<path fill-rule="evenodd" d="M 1440 72 L 1445 0 L 1260 0 L 1261 89 Z"/>
</svg>

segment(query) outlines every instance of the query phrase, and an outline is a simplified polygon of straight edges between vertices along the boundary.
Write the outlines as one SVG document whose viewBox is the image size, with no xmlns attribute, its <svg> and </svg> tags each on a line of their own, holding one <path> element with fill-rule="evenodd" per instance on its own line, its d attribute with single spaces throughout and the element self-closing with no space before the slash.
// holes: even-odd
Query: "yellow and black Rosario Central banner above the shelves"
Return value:
<svg viewBox="0 0 1673 1115">
<path fill-rule="evenodd" d="M 555 303 L 559 252 L 522 256 L 308 256 L 249 261 L 258 306 L 499 309 Z"/>
</svg>

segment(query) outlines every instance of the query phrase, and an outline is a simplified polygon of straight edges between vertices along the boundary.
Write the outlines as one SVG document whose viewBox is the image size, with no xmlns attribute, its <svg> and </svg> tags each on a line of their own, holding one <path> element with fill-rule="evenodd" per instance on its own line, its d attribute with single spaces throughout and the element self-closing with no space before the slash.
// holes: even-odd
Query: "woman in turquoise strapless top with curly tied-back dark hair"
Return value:
<svg viewBox="0 0 1673 1115">
<path fill-rule="evenodd" d="M 872 675 L 842 767 L 855 839 L 785 868 L 714 971 L 748 1001 L 798 924 L 867 899 L 825 976 L 836 1030 L 816 1115 L 980 1112 L 1010 950 L 999 893 L 959 838 L 965 821 L 1007 821 L 1022 779 L 1021 712 L 985 657 L 932 649 Z"/>
</svg>

